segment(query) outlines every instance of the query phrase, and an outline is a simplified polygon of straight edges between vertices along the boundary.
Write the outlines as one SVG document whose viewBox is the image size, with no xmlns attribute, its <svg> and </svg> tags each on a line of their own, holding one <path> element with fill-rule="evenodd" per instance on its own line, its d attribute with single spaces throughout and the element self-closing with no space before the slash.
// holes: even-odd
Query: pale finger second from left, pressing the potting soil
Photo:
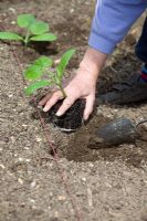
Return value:
<svg viewBox="0 0 147 221">
<path fill-rule="evenodd" d="M 61 92 L 55 92 L 49 99 L 44 98 L 45 106 L 43 112 L 48 112 L 59 99 L 62 99 L 63 95 Z"/>
</svg>

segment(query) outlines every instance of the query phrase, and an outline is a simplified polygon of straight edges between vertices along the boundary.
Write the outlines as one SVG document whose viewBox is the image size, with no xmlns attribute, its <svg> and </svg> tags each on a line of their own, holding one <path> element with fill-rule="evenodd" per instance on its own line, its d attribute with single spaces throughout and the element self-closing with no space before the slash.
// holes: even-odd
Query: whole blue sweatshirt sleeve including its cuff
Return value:
<svg viewBox="0 0 147 221">
<path fill-rule="evenodd" d="M 112 53 L 146 8 L 147 0 L 97 0 L 88 45 Z"/>
</svg>

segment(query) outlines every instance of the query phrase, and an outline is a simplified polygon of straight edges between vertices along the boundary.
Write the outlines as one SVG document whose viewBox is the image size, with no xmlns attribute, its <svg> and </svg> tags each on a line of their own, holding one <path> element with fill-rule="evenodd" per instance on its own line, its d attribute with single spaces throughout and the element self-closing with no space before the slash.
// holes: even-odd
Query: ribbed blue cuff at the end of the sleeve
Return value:
<svg viewBox="0 0 147 221">
<path fill-rule="evenodd" d="M 111 42 L 109 40 L 97 35 L 94 32 L 91 32 L 88 38 L 88 45 L 102 53 L 111 54 L 114 51 L 116 43 Z"/>
</svg>

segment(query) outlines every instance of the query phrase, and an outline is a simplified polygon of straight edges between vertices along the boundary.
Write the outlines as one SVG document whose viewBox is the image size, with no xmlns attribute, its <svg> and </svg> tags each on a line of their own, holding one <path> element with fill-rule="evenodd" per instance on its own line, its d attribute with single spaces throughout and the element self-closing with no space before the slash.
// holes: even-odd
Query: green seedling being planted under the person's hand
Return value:
<svg viewBox="0 0 147 221">
<path fill-rule="evenodd" d="M 61 57 L 60 63 L 50 72 L 53 65 L 53 61 L 48 56 L 41 56 L 34 61 L 24 72 L 24 78 L 33 81 L 27 88 L 25 94 L 32 95 L 36 90 L 45 86 L 57 86 L 62 92 L 63 97 L 66 97 L 64 88 L 62 86 L 62 80 L 65 74 L 65 69 L 75 53 L 74 49 L 67 50 Z M 44 76 L 44 78 L 43 78 Z"/>
</svg>

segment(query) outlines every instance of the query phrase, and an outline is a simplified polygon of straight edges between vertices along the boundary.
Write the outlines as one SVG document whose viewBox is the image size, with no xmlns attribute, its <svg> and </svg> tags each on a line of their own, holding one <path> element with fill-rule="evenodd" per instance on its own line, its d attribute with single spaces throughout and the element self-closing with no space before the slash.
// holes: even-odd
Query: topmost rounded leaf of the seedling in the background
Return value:
<svg viewBox="0 0 147 221">
<path fill-rule="evenodd" d="M 35 22 L 35 18 L 32 14 L 18 15 L 18 25 L 20 28 L 29 28 L 33 22 Z"/>
</svg>

